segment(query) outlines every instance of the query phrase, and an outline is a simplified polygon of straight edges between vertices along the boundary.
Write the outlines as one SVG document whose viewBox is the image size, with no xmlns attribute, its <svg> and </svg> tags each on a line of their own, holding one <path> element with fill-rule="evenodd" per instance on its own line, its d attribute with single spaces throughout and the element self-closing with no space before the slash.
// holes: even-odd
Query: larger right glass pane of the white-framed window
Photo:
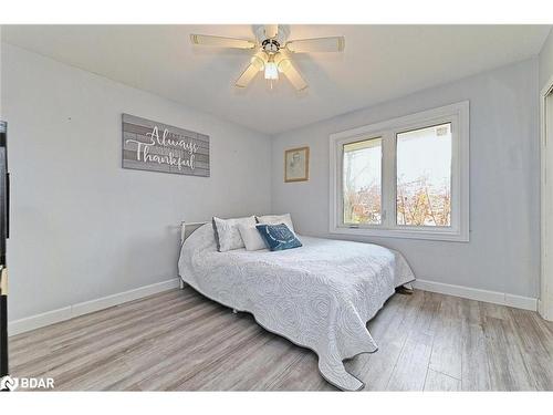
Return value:
<svg viewBox="0 0 553 415">
<path fill-rule="evenodd" d="M 451 124 L 397 135 L 397 224 L 451 225 Z"/>
</svg>

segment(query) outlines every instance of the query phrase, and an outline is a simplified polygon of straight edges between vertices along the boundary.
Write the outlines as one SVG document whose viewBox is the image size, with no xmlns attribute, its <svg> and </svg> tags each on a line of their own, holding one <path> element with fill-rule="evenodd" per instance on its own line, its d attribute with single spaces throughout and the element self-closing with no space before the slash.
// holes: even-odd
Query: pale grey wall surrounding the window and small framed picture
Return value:
<svg viewBox="0 0 553 415">
<path fill-rule="evenodd" d="M 328 135 L 470 101 L 470 242 L 351 238 L 401 251 L 418 278 L 538 297 L 538 60 L 529 60 L 273 138 L 272 207 L 301 234 L 328 236 Z M 310 180 L 283 183 L 283 152 L 311 147 Z M 345 238 L 345 237 L 344 237 Z"/>
</svg>

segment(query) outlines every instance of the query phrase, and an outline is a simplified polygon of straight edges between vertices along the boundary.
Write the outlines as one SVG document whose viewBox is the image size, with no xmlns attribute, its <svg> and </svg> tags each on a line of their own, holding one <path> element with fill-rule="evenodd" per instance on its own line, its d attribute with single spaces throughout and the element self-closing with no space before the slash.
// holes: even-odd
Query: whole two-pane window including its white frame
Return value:
<svg viewBox="0 0 553 415">
<path fill-rule="evenodd" d="M 469 104 L 331 136 L 330 231 L 468 241 Z"/>
</svg>

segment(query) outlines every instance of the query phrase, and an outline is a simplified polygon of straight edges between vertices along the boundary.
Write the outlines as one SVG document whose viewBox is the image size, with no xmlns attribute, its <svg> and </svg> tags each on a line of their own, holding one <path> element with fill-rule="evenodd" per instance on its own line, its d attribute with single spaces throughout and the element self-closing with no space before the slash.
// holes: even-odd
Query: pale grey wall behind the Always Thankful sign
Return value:
<svg viewBox="0 0 553 415">
<path fill-rule="evenodd" d="M 175 102 L 2 44 L 10 320 L 177 276 L 178 224 L 268 212 L 271 145 Z M 211 137 L 211 177 L 121 167 L 121 114 Z"/>
</svg>

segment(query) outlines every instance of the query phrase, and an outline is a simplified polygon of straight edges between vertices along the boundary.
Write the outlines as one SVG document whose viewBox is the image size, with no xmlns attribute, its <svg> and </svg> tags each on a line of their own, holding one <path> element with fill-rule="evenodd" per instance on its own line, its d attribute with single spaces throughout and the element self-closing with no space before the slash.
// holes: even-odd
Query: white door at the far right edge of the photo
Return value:
<svg viewBox="0 0 553 415">
<path fill-rule="evenodd" d="M 540 314 L 553 320 L 553 91 L 544 100 L 542 141 L 542 276 Z"/>
</svg>

